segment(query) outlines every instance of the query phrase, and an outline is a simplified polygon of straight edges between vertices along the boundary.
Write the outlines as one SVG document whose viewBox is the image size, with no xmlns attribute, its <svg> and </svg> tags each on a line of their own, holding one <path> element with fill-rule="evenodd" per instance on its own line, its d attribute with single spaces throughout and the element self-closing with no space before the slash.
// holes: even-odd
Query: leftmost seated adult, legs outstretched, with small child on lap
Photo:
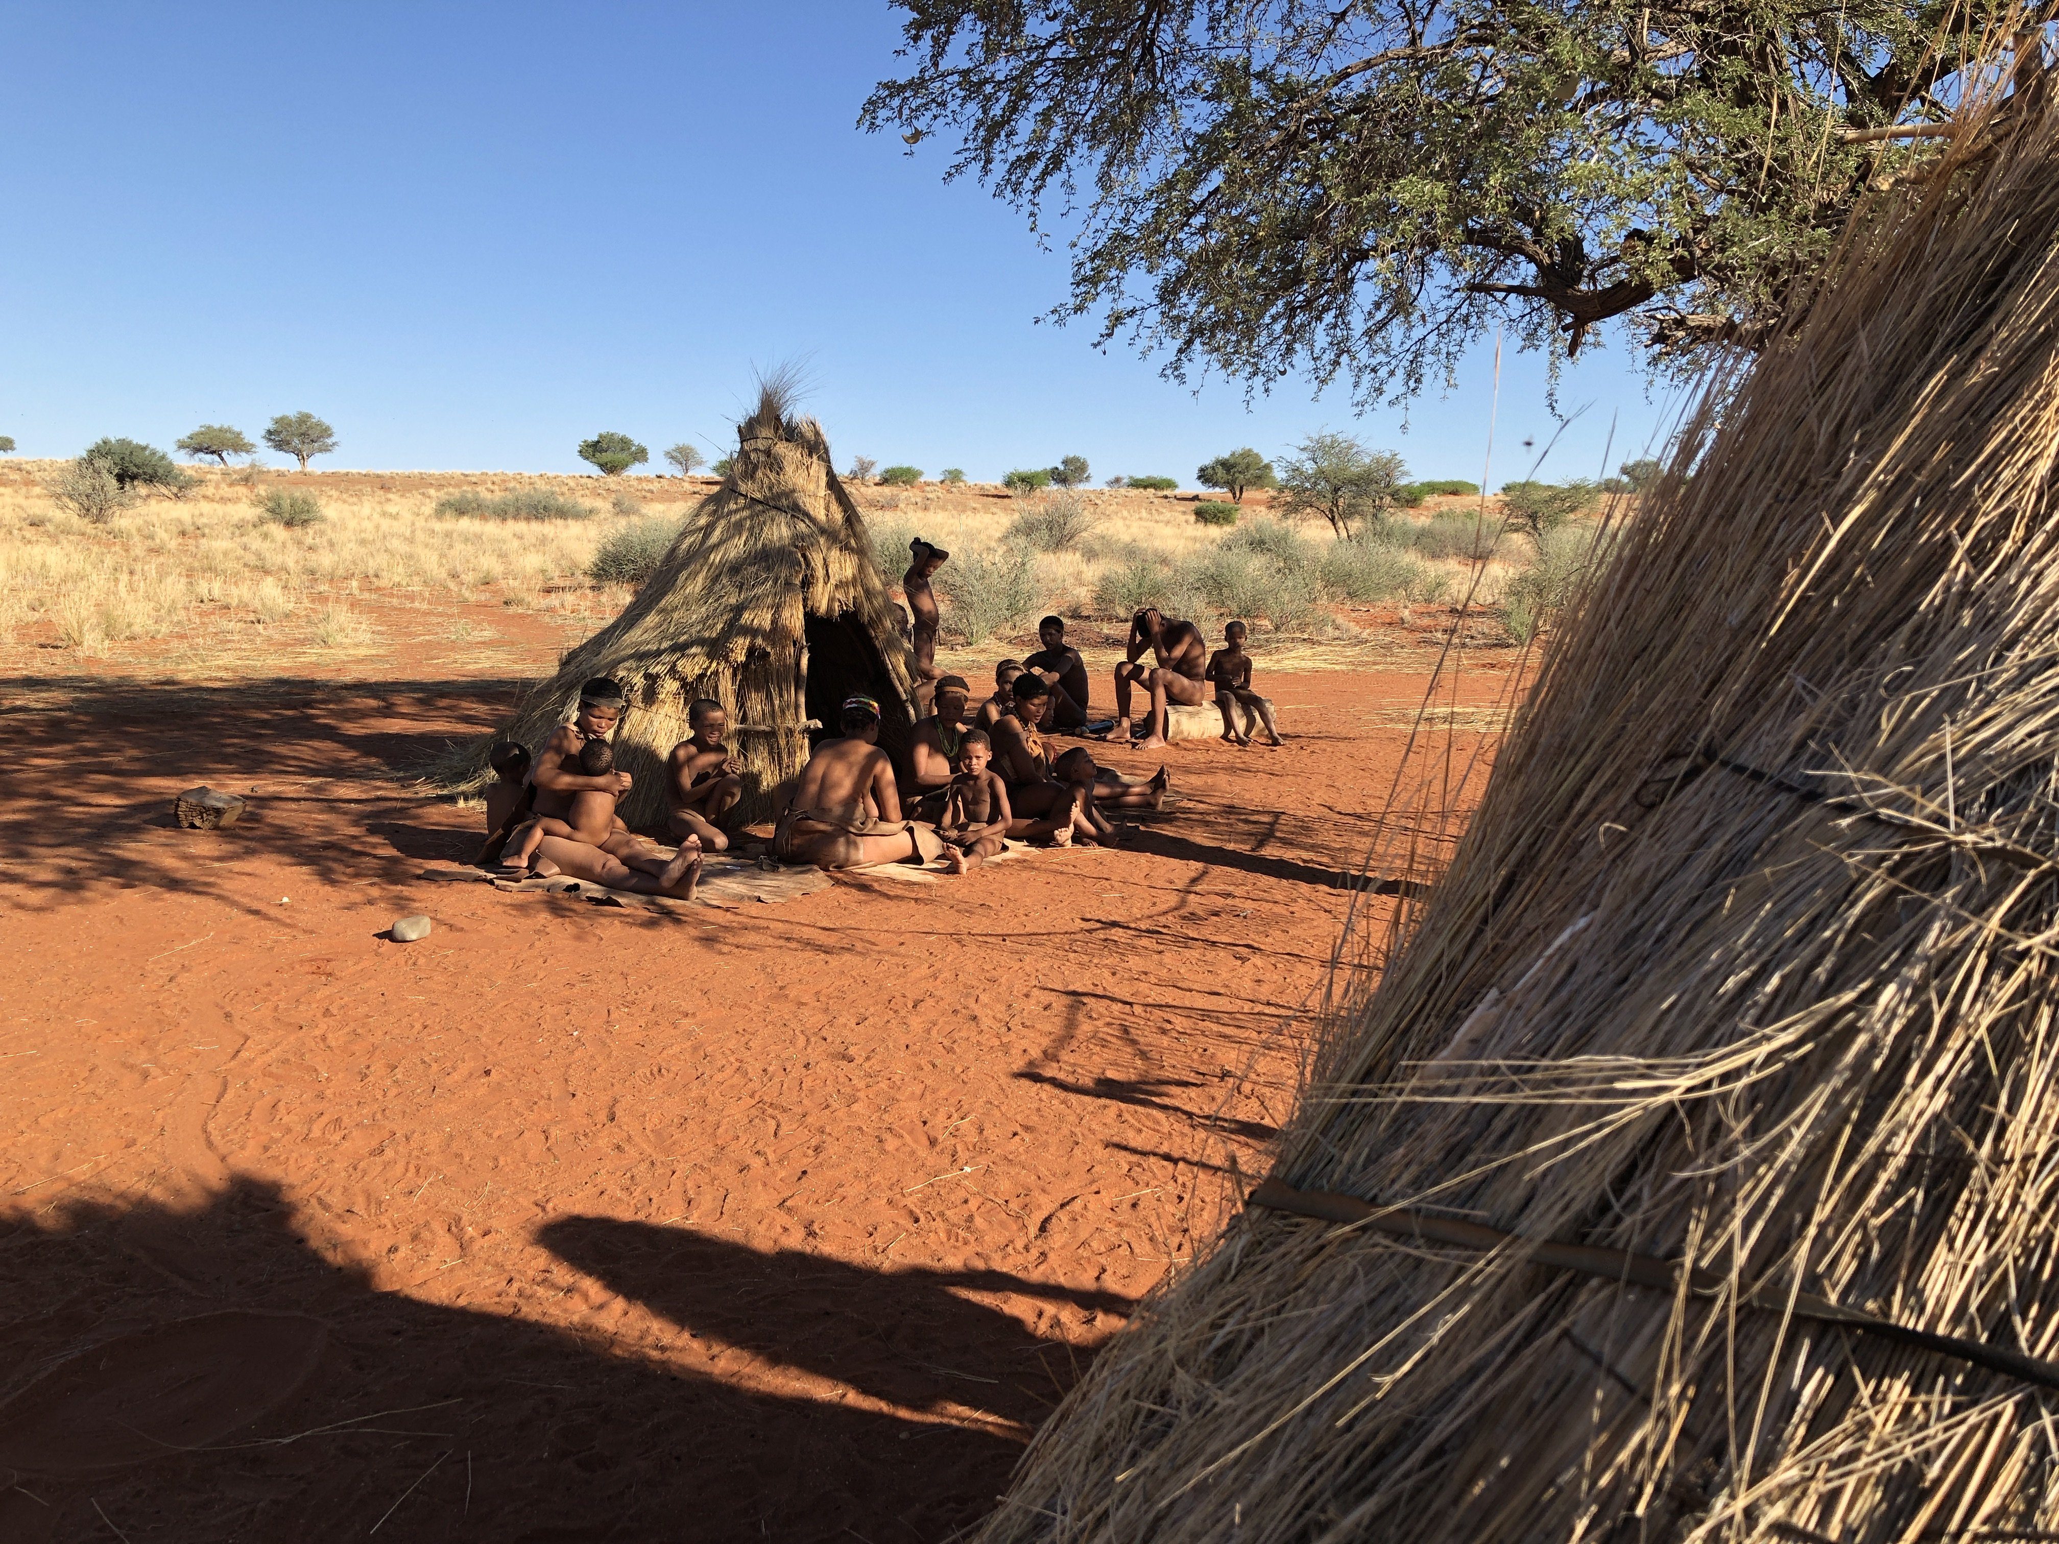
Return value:
<svg viewBox="0 0 2059 1544">
<path fill-rule="evenodd" d="M 558 725 L 544 743 L 529 782 L 535 786 L 533 813 L 560 821 L 574 832 L 605 832 L 599 842 L 577 836 L 544 834 L 535 842 L 529 869 L 537 875 L 568 875 L 609 889 L 632 889 L 640 896 L 692 898 L 700 883 L 700 840 L 688 838 L 673 856 L 655 842 L 630 834 L 616 817 L 616 801 L 630 791 L 634 778 L 616 772 L 585 772 L 579 764 L 591 739 L 607 739 L 622 721 L 626 698 L 618 681 L 597 675 L 579 688 L 579 712 L 572 723 Z M 581 795 L 597 795 L 574 809 Z M 605 819 L 595 805 L 605 803 Z"/>
</svg>

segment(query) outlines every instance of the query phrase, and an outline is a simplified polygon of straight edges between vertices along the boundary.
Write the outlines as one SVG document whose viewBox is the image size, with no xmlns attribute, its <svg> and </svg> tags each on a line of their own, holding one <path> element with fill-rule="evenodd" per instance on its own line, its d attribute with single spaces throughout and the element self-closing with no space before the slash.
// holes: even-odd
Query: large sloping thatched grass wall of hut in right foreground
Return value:
<svg viewBox="0 0 2059 1544">
<path fill-rule="evenodd" d="M 988 1544 L 2059 1538 L 2059 121 L 1977 132 L 1690 426 Z"/>
</svg>

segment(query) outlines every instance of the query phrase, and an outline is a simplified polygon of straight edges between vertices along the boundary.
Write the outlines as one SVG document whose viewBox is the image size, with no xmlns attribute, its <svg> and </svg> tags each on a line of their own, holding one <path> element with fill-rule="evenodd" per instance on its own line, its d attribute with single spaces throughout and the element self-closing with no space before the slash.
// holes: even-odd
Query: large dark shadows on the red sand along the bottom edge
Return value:
<svg viewBox="0 0 2059 1544">
<path fill-rule="evenodd" d="M 947 1291 L 980 1276 L 904 1280 L 605 1219 L 550 1235 L 667 1318 L 828 1375 L 848 1365 L 887 1400 L 1025 1418 L 1013 1381 L 1044 1375 L 1030 1332 Z M 1003 1423 L 752 1392 L 377 1291 L 249 1178 L 198 1210 L 0 1219 L 0 1299 L 8 1544 L 362 1540 L 375 1525 L 381 1544 L 943 1540 L 992 1505 L 1021 1447 Z M 865 1334 L 883 1355 L 844 1350 Z M 949 1373 L 863 1371 L 898 1359 Z"/>
</svg>

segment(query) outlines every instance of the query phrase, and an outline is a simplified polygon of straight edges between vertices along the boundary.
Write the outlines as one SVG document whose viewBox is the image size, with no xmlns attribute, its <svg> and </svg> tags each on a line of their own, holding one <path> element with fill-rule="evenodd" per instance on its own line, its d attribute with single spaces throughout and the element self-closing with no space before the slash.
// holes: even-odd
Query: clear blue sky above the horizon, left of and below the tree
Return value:
<svg viewBox="0 0 2059 1544">
<path fill-rule="evenodd" d="M 1447 397 L 1353 414 L 1287 381 L 1161 381 L 1038 317 L 1062 251 L 945 148 L 854 130 L 896 72 L 873 0 L 72 4 L 0 10 L 0 434 L 76 455 L 202 422 L 336 424 L 336 467 L 585 471 L 624 430 L 708 455 L 760 364 L 805 358 L 840 461 L 974 480 L 1275 455 L 1314 428 L 1478 478 L 1491 348 Z M 1641 453 L 1666 397 L 1620 346 L 1544 476 Z M 1604 438 L 1614 420 L 1614 453 Z M 1493 480 L 1552 434 L 1503 360 Z"/>
</svg>

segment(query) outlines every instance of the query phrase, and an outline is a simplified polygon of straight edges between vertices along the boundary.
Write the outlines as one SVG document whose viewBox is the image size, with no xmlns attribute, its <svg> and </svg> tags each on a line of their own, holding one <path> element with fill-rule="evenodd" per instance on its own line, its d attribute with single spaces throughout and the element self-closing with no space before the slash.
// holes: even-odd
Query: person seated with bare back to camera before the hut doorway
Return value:
<svg viewBox="0 0 2059 1544">
<path fill-rule="evenodd" d="M 801 768 L 772 828 L 772 856 L 822 869 L 935 858 L 943 850 L 937 832 L 902 819 L 894 764 L 879 749 L 879 704 L 846 698 L 838 727 L 844 737 L 826 739 Z"/>
</svg>

